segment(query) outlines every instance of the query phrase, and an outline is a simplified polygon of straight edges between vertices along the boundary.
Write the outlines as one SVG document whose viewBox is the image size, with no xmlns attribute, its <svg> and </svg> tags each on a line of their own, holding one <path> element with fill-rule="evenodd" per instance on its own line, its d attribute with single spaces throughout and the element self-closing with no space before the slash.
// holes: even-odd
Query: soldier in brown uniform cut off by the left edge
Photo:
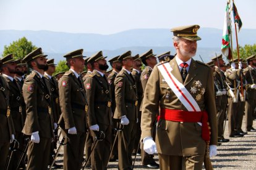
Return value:
<svg viewBox="0 0 256 170">
<path fill-rule="evenodd" d="M 4 65 L 8 60 L 0 60 L 0 69 L 3 70 Z M 9 104 L 9 90 L 6 79 L 0 75 L 0 169 L 4 169 L 9 152 L 10 143 L 14 140 L 14 124 Z"/>
</svg>

